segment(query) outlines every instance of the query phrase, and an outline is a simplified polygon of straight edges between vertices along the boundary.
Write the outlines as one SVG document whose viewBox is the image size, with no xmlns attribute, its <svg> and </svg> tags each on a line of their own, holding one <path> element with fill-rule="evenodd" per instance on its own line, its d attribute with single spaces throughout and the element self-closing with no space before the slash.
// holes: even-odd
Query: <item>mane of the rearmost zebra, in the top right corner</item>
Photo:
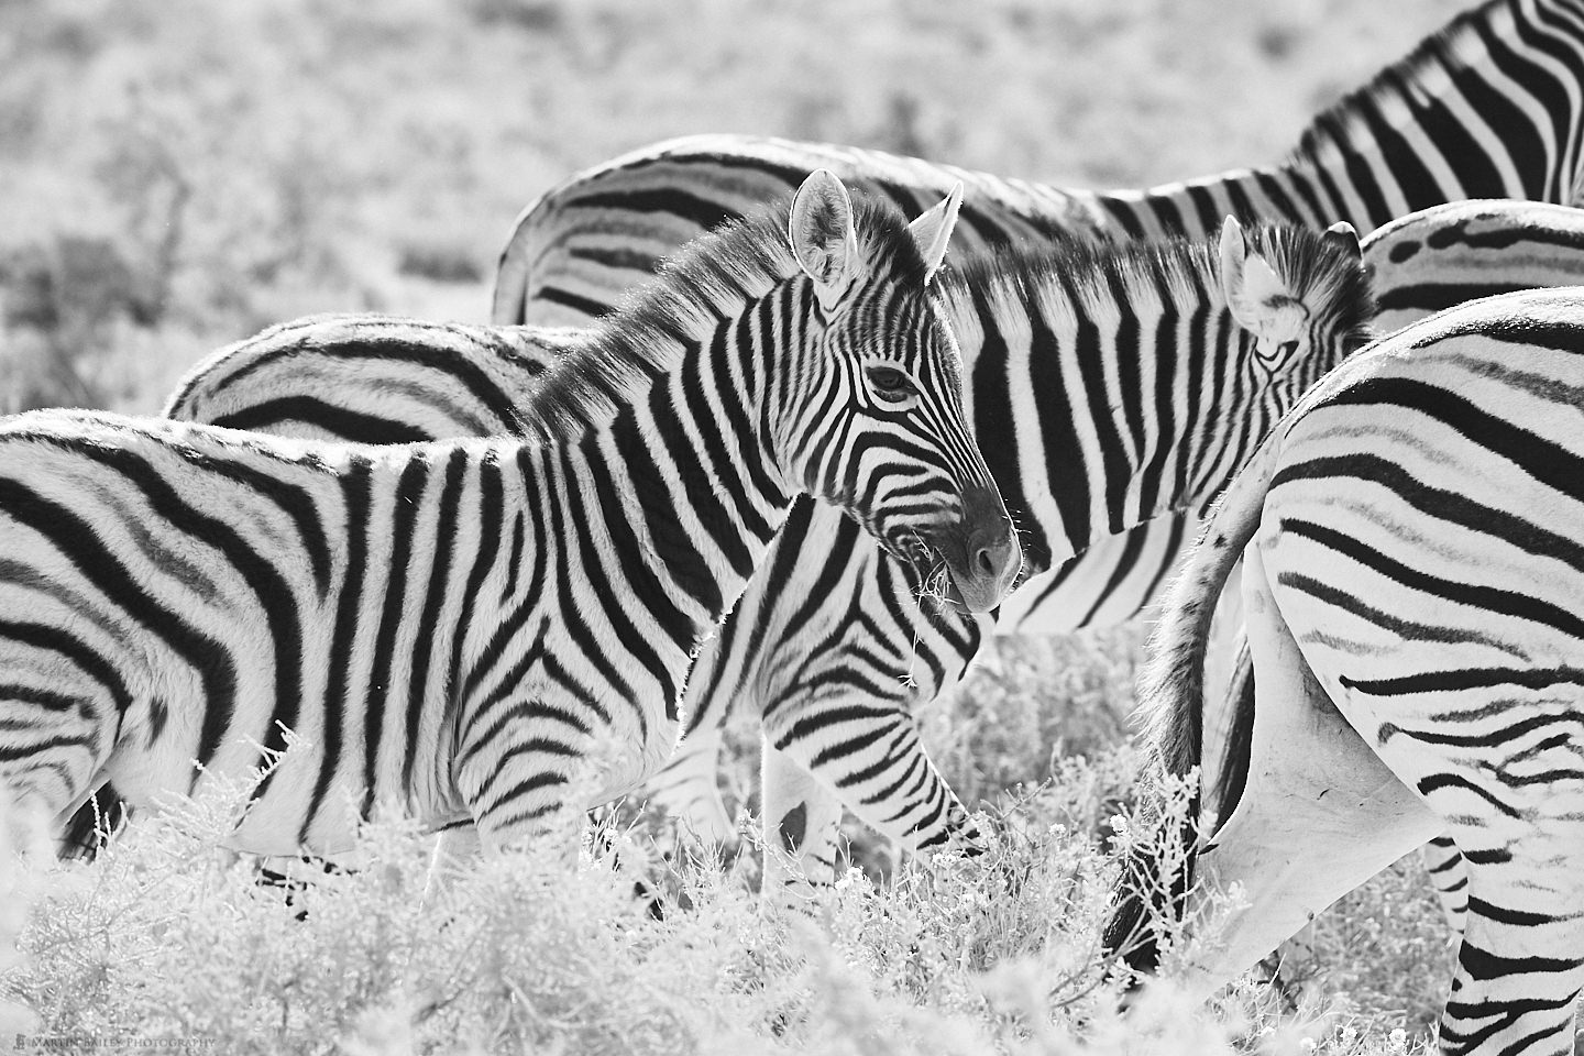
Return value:
<svg viewBox="0 0 1584 1056">
<path fill-rule="evenodd" d="M 1511 6 L 1513 0 L 1487 0 L 1478 8 L 1460 11 L 1451 22 L 1415 44 L 1407 55 L 1321 111 L 1304 130 L 1286 163 L 1323 165 L 1327 150 L 1353 154 L 1351 144 L 1356 138 L 1370 141 L 1376 135 L 1365 125 L 1367 112 L 1392 114 L 1402 111 L 1405 100 L 1445 95 L 1446 89 L 1430 78 L 1440 74 L 1440 81 L 1445 81 L 1448 70 L 1479 62 L 1486 55 L 1483 36 L 1494 33 L 1492 17 Z"/>
</svg>

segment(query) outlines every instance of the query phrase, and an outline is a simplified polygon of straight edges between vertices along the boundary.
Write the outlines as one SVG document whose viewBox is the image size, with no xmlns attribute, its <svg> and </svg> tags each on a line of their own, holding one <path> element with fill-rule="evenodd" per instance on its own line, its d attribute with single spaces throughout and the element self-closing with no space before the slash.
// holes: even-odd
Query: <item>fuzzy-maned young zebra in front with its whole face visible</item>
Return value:
<svg viewBox="0 0 1584 1056">
<path fill-rule="evenodd" d="M 238 849 L 334 853 L 386 809 L 499 849 L 665 760 L 692 652 L 798 492 L 993 606 L 1019 546 L 930 288 L 957 204 L 909 228 L 816 173 L 581 337 L 524 435 L 0 423 L 0 785 L 143 807 L 285 727 Z"/>
</svg>

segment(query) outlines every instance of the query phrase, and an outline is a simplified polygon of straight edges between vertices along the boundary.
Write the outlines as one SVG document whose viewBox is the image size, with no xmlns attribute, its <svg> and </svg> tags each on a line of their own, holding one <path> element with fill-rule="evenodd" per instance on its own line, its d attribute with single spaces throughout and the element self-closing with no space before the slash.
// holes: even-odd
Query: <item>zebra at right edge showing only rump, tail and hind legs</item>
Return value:
<svg viewBox="0 0 1584 1056">
<path fill-rule="evenodd" d="M 1188 773 L 1207 613 L 1243 554 L 1247 784 L 1182 869 L 1133 844 L 1106 936 L 1129 966 L 1156 967 L 1145 906 L 1182 912 L 1193 877 L 1245 895 L 1183 950 L 1205 994 L 1446 830 L 1468 904 L 1441 1051 L 1573 1051 L 1581 350 L 1576 288 L 1449 309 L 1335 370 L 1228 489 L 1166 605 L 1142 708 L 1153 769 Z"/>
</svg>

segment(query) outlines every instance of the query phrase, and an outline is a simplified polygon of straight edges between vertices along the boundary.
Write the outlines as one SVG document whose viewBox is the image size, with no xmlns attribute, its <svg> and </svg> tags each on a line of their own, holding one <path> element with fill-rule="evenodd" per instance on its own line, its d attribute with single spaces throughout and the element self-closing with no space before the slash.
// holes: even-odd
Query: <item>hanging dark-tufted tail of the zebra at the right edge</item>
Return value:
<svg viewBox="0 0 1584 1056">
<path fill-rule="evenodd" d="M 1217 503 L 1163 605 L 1139 689 L 1142 773 L 1152 814 L 1123 852 L 1121 876 L 1102 934 L 1107 956 L 1134 972 L 1159 969 L 1164 921 L 1178 921 L 1193 888 L 1199 836 L 1199 782 L 1180 817 L 1163 815 L 1169 779 L 1185 779 L 1204 758 L 1204 659 L 1210 619 L 1243 548 L 1259 527 L 1266 491 L 1280 456 L 1281 429 L 1267 437 Z M 1253 724 L 1240 708 L 1237 724 Z M 1234 728 L 1234 743 L 1240 731 Z M 1229 752 L 1228 755 L 1234 755 Z M 1242 754 L 1247 768 L 1248 755 Z M 1223 781 L 1223 788 L 1226 782 Z M 1242 788 L 1239 777 L 1237 787 Z M 1136 980 L 1136 977 L 1134 977 Z"/>
</svg>

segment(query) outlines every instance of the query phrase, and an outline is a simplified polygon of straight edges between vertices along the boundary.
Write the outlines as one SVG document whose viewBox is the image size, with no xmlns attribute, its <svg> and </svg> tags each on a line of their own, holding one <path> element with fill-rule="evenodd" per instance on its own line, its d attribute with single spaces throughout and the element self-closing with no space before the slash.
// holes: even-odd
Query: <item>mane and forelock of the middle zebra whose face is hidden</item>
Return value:
<svg viewBox="0 0 1584 1056">
<path fill-rule="evenodd" d="M 1321 313 L 1338 336 L 1362 336 L 1375 315 L 1369 272 L 1359 256 L 1313 228 L 1256 225 L 1245 230 L 1258 252 L 1293 294 Z M 941 285 L 958 334 L 977 312 L 976 299 L 1001 321 L 1026 317 L 1030 306 L 1047 320 L 1114 321 L 1145 304 L 1185 306 L 1220 301 L 1220 264 L 1210 241 L 1172 237 L 1159 242 L 1093 244 L 1057 241 L 977 256 L 949 271 Z"/>
</svg>

